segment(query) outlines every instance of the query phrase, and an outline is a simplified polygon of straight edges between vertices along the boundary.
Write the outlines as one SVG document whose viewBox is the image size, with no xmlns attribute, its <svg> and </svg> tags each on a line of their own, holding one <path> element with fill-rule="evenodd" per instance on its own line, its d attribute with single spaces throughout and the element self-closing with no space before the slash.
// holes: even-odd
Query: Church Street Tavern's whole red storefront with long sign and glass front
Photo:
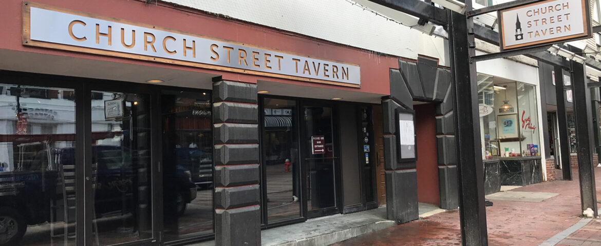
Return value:
<svg viewBox="0 0 601 246">
<path fill-rule="evenodd" d="M 385 204 L 398 58 L 144 1 L 39 2 L 0 17 L 0 245 L 185 244 Z M 238 210 L 258 219 L 227 224 Z"/>
</svg>

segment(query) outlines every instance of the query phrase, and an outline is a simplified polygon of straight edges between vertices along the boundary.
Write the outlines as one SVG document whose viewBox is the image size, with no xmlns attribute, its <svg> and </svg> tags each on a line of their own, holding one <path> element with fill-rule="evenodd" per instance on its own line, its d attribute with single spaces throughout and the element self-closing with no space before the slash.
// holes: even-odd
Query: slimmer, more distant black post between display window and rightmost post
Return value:
<svg viewBox="0 0 601 246">
<path fill-rule="evenodd" d="M 561 172 L 564 180 L 572 180 L 572 166 L 570 165 L 570 135 L 567 130 L 566 92 L 564 90 L 563 69 L 555 66 L 555 96 L 557 97 L 557 127 L 559 128 Z M 556 155 L 557 156 L 557 155 Z"/>
</svg>

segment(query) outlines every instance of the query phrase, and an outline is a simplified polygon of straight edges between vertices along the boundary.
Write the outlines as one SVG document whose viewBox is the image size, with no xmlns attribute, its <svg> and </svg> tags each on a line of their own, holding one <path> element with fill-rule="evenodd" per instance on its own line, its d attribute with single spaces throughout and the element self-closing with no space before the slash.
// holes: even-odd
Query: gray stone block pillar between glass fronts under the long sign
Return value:
<svg viewBox="0 0 601 246">
<path fill-rule="evenodd" d="M 215 245 L 261 245 L 257 85 L 213 78 Z"/>
</svg>

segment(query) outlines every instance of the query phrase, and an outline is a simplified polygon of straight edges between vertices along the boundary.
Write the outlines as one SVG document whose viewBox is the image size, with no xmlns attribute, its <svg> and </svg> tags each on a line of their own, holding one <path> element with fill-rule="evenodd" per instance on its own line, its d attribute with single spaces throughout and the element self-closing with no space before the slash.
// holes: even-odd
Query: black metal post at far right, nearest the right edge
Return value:
<svg viewBox="0 0 601 246">
<path fill-rule="evenodd" d="M 570 47 L 574 53 L 581 49 Z M 593 209 L 597 217 L 597 191 L 595 190 L 595 171 L 593 165 L 593 119 L 591 118 L 591 93 L 587 88 L 585 65 L 570 62 L 572 66 L 572 91 L 574 94 L 574 116 L 576 118 L 576 152 L 578 154 L 578 178 L 580 181 L 580 200 L 582 210 Z"/>
</svg>

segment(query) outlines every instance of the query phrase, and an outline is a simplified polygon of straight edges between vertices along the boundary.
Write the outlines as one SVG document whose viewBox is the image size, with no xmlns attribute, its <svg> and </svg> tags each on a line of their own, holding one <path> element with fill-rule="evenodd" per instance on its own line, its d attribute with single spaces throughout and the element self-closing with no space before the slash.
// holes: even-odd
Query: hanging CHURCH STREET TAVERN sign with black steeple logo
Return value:
<svg viewBox="0 0 601 246">
<path fill-rule="evenodd" d="M 542 1 L 500 10 L 501 50 L 590 38 L 585 1 Z"/>
</svg>

